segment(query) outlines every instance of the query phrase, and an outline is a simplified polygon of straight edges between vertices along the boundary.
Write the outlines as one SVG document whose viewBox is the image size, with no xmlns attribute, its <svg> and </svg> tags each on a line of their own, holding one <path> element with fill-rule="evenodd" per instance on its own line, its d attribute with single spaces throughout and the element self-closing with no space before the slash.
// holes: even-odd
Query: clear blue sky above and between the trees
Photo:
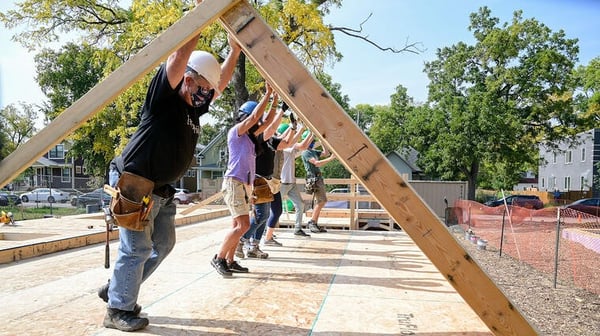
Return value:
<svg viewBox="0 0 600 336">
<path fill-rule="evenodd" d="M 2 1 L 0 11 L 12 8 L 14 1 Z M 600 1 L 597 0 L 344 0 L 325 18 L 334 26 L 357 28 L 367 18 L 363 30 L 382 46 L 400 48 L 420 42 L 426 49 L 418 55 L 381 52 L 363 41 L 336 34 L 338 51 L 344 58 L 328 68 L 334 82 L 340 83 L 350 105 L 389 104 L 396 86 L 403 85 L 415 101 L 427 98 L 428 79 L 423 64 L 435 59 L 438 48 L 459 41 L 472 44 L 467 30 L 469 14 L 487 5 L 501 23 L 510 21 L 515 10 L 524 18 L 535 18 L 553 31 L 563 29 L 569 38 L 578 38 L 580 64 L 600 56 Z M 0 106 L 17 102 L 41 103 L 44 95 L 34 81 L 33 56 L 10 41 L 11 31 L 0 29 Z"/>
</svg>

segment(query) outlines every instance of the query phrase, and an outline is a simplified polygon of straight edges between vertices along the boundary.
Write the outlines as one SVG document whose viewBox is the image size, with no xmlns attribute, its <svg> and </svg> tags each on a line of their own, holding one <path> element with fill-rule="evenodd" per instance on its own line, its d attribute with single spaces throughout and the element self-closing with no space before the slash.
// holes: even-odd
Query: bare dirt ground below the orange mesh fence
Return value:
<svg viewBox="0 0 600 336">
<path fill-rule="evenodd" d="M 549 274 L 505 254 L 500 258 L 493 247 L 478 250 L 461 232 L 455 235 L 540 335 L 600 335 L 600 296 L 560 283 L 554 288 Z"/>
</svg>

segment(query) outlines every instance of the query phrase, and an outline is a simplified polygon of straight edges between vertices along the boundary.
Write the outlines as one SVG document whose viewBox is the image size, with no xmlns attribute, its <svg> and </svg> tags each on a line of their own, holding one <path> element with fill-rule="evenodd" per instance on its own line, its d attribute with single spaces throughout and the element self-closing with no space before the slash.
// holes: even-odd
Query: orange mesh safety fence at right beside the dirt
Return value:
<svg viewBox="0 0 600 336">
<path fill-rule="evenodd" d="M 474 243 L 481 239 L 499 256 L 510 255 L 556 282 L 600 294 L 600 217 L 563 207 L 488 207 L 467 200 L 456 201 L 452 211 L 457 223 L 476 236 Z"/>
</svg>

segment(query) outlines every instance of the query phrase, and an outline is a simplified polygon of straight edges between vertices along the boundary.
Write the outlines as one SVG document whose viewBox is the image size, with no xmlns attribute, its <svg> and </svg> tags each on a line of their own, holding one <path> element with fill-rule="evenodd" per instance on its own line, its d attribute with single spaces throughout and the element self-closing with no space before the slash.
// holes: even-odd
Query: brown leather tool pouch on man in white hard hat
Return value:
<svg viewBox="0 0 600 336">
<path fill-rule="evenodd" d="M 117 225 L 133 231 L 144 231 L 152 209 L 154 182 L 142 176 L 123 172 L 117 182 L 117 195 L 110 202 Z"/>
</svg>

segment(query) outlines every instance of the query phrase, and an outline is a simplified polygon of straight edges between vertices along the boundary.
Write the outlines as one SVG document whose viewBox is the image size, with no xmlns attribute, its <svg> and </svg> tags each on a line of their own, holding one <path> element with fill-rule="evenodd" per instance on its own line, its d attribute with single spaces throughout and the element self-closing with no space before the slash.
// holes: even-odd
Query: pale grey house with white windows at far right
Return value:
<svg viewBox="0 0 600 336">
<path fill-rule="evenodd" d="M 577 135 L 574 143 L 562 142 L 553 149 L 539 146 L 540 165 L 538 186 L 540 191 L 589 191 L 595 197 L 600 193 L 594 187 L 600 161 L 600 129 Z"/>
</svg>

